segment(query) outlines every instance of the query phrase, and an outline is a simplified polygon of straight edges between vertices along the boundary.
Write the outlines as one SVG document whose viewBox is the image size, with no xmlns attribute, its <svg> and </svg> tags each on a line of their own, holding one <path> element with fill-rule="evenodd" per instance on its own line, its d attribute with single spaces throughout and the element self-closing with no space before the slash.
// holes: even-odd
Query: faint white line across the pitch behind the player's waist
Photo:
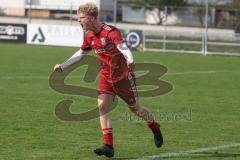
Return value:
<svg viewBox="0 0 240 160">
<path fill-rule="evenodd" d="M 164 75 L 187 75 L 187 74 L 212 74 L 212 73 L 240 73 L 240 71 L 229 71 L 229 70 L 220 70 L 220 71 L 188 71 L 188 72 L 170 72 Z M 71 78 L 80 78 L 79 76 L 71 76 Z M 49 79 L 49 76 L 0 76 L 0 80 L 16 80 L 16 79 Z"/>
</svg>

